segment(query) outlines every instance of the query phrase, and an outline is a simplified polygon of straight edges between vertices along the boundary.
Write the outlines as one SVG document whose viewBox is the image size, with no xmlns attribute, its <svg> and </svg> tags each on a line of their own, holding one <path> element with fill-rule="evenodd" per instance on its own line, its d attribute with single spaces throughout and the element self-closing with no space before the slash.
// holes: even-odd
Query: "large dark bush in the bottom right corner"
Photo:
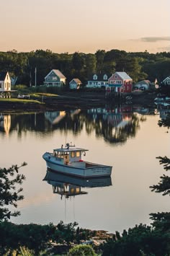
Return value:
<svg viewBox="0 0 170 256">
<path fill-rule="evenodd" d="M 167 234 L 153 230 L 151 226 L 136 225 L 133 229 L 117 232 L 112 239 L 101 245 L 102 256 L 140 256 L 140 255 L 168 255 L 169 239 Z"/>
</svg>

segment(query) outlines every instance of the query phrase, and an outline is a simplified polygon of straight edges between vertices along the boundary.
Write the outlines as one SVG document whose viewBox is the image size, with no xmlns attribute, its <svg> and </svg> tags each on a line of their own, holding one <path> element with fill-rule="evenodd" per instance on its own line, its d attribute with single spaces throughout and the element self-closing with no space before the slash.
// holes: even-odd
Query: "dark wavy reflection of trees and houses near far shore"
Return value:
<svg viewBox="0 0 170 256">
<path fill-rule="evenodd" d="M 60 115 L 60 112 L 46 112 L 55 118 Z M 134 137 L 139 128 L 140 121 L 145 121 L 145 118 L 140 118 L 132 112 L 119 112 L 115 110 L 99 109 L 99 112 L 92 110 L 81 110 L 74 115 L 72 111 L 66 111 L 58 123 L 50 123 L 50 120 L 45 118 L 45 113 L 18 114 L 12 115 L 12 125 L 10 132 L 17 131 L 19 136 L 27 131 L 42 132 L 44 136 L 48 136 L 55 130 L 60 130 L 65 134 L 67 131 L 72 131 L 74 136 L 81 133 L 85 127 L 86 133 L 95 133 L 97 137 L 103 137 L 110 143 L 125 143 L 128 138 Z"/>
</svg>

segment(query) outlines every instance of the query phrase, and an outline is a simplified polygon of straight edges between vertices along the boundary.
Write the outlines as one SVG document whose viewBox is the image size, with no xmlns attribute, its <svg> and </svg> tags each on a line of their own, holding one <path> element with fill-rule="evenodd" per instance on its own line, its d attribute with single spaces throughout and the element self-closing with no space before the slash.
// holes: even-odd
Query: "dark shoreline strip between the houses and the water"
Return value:
<svg viewBox="0 0 170 256">
<path fill-rule="evenodd" d="M 78 97 L 79 95 L 79 97 Z M 120 104 L 142 105 L 151 107 L 154 104 L 156 93 L 134 92 L 132 100 L 126 102 L 125 99 L 106 99 L 104 94 L 76 94 L 76 97 L 71 94 L 63 94 L 58 97 L 47 97 L 43 102 L 10 102 L 0 100 L 0 112 L 45 112 L 55 110 L 76 110 L 78 108 L 87 109 L 92 107 L 105 107 Z"/>
</svg>

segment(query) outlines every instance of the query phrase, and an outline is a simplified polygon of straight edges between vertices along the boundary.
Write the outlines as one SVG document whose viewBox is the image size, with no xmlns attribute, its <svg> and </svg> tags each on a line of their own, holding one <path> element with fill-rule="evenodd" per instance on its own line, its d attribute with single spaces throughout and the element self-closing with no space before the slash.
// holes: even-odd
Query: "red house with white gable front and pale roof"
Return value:
<svg viewBox="0 0 170 256">
<path fill-rule="evenodd" d="M 116 72 L 109 77 L 108 86 L 115 92 L 130 93 L 133 90 L 133 79 L 126 72 Z"/>
</svg>

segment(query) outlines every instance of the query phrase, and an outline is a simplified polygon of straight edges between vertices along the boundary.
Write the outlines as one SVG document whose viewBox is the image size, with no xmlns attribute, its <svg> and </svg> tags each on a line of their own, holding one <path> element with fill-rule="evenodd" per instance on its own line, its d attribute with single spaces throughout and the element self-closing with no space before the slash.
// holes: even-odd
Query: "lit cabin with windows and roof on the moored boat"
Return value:
<svg viewBox="0 0 170 256">
<path fill-rule="evenodd" d="M 86 155 L 86 151 L 88 149 L 80 149 L 76 148 L 75 146 L 70 146 L 70 144 L 66 144 L 66 147 L 61 149 L 53 149 L 53 156 L 55 156 L 57 161 L 62 162 L 63 164 L 69 163 L 76 163 L 76 162 L 83 162 L 81 159 L 81 155 L 84 153 Z"/>
</svg>

